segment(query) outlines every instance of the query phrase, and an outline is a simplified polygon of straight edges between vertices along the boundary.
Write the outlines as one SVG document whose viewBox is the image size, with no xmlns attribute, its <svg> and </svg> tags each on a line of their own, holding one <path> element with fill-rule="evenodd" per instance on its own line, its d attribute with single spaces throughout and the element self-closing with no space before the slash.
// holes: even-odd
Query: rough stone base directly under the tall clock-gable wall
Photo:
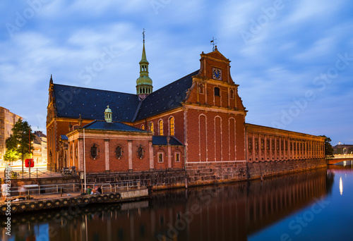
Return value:
<svg viewBox="0 0 353 241">
<path fill-rule="evenodd" d="M 190 186 L 246 180 L 246 162 L 186 163 L 186 173 Z"/>
</svg>

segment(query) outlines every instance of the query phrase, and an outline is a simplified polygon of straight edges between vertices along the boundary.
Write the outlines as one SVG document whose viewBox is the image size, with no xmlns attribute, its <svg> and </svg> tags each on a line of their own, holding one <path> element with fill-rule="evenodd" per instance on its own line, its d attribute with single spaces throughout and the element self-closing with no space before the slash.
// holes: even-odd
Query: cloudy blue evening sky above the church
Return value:
<svg viewBox="0 0 353 241">
<path fill-rule="evenodd" d="M 153 88 L 231 62 L 246 123 L 353 144 L 350 0 L 0 1 L 0 106 L 46 132 L 54 83 L 136 93 L 143 29 Z"/>
</svg>

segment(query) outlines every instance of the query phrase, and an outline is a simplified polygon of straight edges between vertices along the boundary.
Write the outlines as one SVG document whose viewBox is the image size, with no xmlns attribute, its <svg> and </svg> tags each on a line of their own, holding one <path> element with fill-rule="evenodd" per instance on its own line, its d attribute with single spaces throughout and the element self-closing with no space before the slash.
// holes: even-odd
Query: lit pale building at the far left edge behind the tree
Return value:
<svg viewBox="0 0 353 241">
<path fill-rule="evenodd" d="M 0 160 L 6 152 L 6 139 L 12 134 L 13 125 L 21 118 L 0 106 Z"/>
</svg>

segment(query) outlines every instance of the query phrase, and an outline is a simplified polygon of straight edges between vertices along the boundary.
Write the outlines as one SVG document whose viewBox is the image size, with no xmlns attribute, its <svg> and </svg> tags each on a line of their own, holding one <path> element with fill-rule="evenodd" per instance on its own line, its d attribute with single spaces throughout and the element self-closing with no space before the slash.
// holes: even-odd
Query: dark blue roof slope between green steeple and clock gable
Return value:
<svg viewBox="0 0 353 241">
<path fill-rule="evenodd" d="M 183 78 L 152 92 L 152 94 L 149 94 L 148 97 L 143 100 L 140 109 L 138 110 L 136 120 L 134 121 L 139 121 L 148 118 L 149 116 L 155 116 L 158 113 L 181 106 L 181 101 L 186 98 L 186 91 L 193 84 L 192 76 L 197 75 L 198 71 L 199 70 L 186 75 Z"/>
</svg>

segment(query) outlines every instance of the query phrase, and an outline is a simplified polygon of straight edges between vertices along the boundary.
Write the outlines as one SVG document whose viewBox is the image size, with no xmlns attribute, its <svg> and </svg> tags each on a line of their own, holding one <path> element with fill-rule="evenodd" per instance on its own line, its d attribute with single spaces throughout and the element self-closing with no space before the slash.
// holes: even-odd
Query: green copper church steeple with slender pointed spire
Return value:
<svg viewBox="0 0 353 241">
<path fill-rule="evenodd" d="M 142 57 L 140 61 L 140 77 L 136 80 L 136 94 L 141 99 L 145 99 L 148 94 L 152 93 L 152 80 L 150 76 L 148 76 L 148 61 L 146 58 L 145 51 L 145 29 L 143 29 L 143 49 L 142 49 Z"/>
</svg>

